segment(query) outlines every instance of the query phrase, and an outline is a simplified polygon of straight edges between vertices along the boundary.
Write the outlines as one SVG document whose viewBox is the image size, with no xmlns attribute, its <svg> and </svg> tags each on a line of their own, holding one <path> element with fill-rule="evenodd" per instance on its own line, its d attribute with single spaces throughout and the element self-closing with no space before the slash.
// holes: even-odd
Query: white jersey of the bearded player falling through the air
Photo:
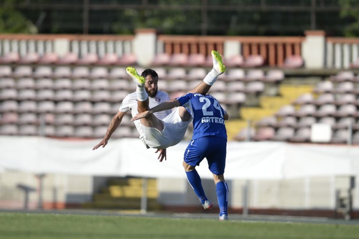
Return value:
<svg viewBox="0 0 359 239">
<path fill-rule="evenodd" d="M 148 97 L 149 99 L 149 107 L 152 109 L 153 107 L 159 105 L 162 102 L 169 101 L 169 96 L 167 93 L 163 91 L 157 91 L 157 95 L 155 97 Z M 133 92 L 131 94 L 128 94 L 125 99 L 123 99 L 121 107 L 119 109 L 122 112 L 131 111 L 132 117 L 136 116 L 138 114 L 137 110 L 137 94 L 136 92 Z M 167 115 L 171 114 L 172 110 L 164 110 L 160 112 L 153 113 L 158 119 L 162 120 Z M 142 130 L 142 126 L 140 123 L 140 120 L 134 121 L 135 126 L 137 128 L 137 131 L 140 133 L 140 139 L 142 142 L 144 141 L 144 132 Z M 146 143 L 145 143 L 146 144 Z"/>
</svg>

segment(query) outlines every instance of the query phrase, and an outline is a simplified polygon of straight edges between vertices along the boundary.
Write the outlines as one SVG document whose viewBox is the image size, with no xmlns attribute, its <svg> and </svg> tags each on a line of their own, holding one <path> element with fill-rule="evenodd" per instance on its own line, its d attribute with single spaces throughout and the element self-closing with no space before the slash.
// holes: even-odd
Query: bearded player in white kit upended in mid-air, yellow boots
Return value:
<svg viewBox="0 0 359 239">
<path fill-rule="evenodd" d="M 222 62 L 222 56 L 217 51 L 211 52 L 213 57 L 213 69 L 207 74 L 194 89 L 188 93 L 207 94 L 210 87 L 216 81 L 217 77 L 225 72 L 225 66 Z M 107 132 L 100 143 L 94 149 L 101 145 L 105 147 L 112 133 L 120 125 L 123 116 L 127 111 L 131 111 L 132 117 L 142 113 L 162 102 L 169 100 L 167 93 L 158 91 L 158 75 L 155 71 L 147 69 L 141 76 L 133 67 L 126 68 L 127 73 L 136 83 L 136 92 L 131 93 L 123 99 L 118 113 L 112 118 Z M 147 148 L 156 148 L 160 152 L 158 159 L 160 162 L 166 159 L 166 148 L 178 144 L 186 133 L 187 126 L 191 122 L 191 115 L 185 107 L 176 107 L 175 110 L 160 111 L 151 114 L 147 118 L 135 121 L 135 126 L 140 133 L 141 141 Z"/>
</svg>

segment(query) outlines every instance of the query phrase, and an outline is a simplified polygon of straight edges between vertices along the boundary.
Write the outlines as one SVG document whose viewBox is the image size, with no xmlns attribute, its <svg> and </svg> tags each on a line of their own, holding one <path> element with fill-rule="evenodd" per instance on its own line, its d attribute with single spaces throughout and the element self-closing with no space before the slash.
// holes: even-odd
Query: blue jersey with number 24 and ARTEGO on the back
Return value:
<svg viewBox="0 0 359 239">
<path fill-rule="evenodd" d="M 177 98 L 186 107 L 193 119 L 192 139 L 214 135 L 227 139 L 223 115 L 226 112 L 211 95 L 188 93 Z"/>
</svg>

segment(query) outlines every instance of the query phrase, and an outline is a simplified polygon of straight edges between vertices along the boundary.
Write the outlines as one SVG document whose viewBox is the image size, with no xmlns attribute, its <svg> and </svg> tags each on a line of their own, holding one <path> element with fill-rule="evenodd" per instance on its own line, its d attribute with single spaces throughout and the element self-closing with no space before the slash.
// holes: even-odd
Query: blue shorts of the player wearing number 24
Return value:
<svg viewBox="0 0 359 239">
<path fill-rule="evenodd" d="M 206 158 L 209 170 L 215 175 L 222 175 L 224 174 L 226 154 L 227 140 L 209 135 L 191 140 L 186 148 L 183 160 L 196 167 Z"/>
</svg>

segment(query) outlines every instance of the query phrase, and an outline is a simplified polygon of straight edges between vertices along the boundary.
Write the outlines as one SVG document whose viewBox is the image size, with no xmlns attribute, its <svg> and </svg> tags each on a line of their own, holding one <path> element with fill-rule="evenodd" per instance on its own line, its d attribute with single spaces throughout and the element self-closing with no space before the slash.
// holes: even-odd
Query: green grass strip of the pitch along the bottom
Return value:
<svg viewBox="0 0 359 239">
<path fill-rule="evenodd" d="M 359 238 L 359 226 L 0 213 L 0 238 Z"/>
</svg>

